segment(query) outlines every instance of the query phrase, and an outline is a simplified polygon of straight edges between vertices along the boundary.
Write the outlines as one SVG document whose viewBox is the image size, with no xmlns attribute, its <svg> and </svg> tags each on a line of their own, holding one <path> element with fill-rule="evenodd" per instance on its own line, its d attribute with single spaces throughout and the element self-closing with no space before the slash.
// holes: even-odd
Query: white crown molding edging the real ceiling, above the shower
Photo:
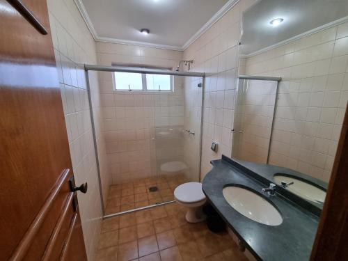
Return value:
<svg viewBox="0 0 348 261">
<path fill-rule="evenodd" d="M 212 27 L 213 24 L 215 24 L 223 15 L 225 15 L 228 10 L 230 10 L 233 6 L 235 6 L 236 3 L 238 3 L 239 0 L 229 0 L 225 5 L 212 17 L 209 19 L 209 21 L 203 25 L 194 35 L 189 38 L 187 42 L 185 42 L 182 47 L 175 46 L 175 45 L 158 45 L 152 42 L 138 42 L 138 41 L 132 41 L 132 40 L 122 40 L 122 39 L 116 39 L 116 38 L 107 38 L 107 37 L 101 37 L 97 35 L 97 31 L 95 31 L 95 28 L 93 26 L 92 21 L 90 20 L 90 17 L 88 16 L 88 13 L 86 11 L 86 8 L 84 7 L 84 3 L 82 3 L 82 0 L 74 0 L 74 3 L 77 6 L 77 9 L 81 13 L 82 18 L 84 19 L 84 22 L 86 23 L 88 30 L 90 31 L 90 34 L 93 36 L 93 39 L 96 42 L 113 42 L 116 44 L 121 45 L 137 45 L 142 47 L 153 47 L 153 48 L 159 48 L 159 49 L 168 49 L 168 50 L 174 50 L 174 51 L 184 51 L 191 45 L 195 40 L 200 38 L 200 35 L 203 35 L 210 27 Z"/>
</svg>

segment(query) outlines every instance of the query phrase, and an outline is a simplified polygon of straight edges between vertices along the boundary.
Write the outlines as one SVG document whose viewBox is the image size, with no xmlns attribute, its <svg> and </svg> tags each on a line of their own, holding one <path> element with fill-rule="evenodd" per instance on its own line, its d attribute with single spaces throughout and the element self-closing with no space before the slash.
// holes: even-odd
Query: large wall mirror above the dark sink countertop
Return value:
<svg viewBox="0 0 348 261">
<path fill-rule="evenodd" d="M 242 17 L 232 157 L 290 169 L 274 182 L 319 207 L 347 106 L 347 36 L 347 0 L 262 0 Z"/>
</svg>

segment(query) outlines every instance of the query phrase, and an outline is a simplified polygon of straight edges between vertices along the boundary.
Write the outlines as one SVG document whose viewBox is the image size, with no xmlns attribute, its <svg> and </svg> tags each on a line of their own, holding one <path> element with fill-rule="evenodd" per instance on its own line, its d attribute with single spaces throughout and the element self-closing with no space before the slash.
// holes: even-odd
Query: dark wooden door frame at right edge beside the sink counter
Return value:
<svg viewBox="0 0 348 261">
<path fill-rule="evenodd" d="M 348 107 L 310 260 L 348 258 Z"/>
</svg>

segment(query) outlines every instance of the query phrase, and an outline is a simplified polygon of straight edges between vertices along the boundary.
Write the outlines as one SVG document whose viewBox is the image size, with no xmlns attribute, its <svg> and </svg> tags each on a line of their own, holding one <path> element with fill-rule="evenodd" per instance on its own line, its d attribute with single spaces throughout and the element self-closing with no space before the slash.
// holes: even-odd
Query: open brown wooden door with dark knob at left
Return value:
<svg viewBox="0 0 348 261">
<path fill-rule="evenodd" d="M 46 0 L 0 0 L 0 111 L 0 260 L 86 260 Z"/>
</svg>

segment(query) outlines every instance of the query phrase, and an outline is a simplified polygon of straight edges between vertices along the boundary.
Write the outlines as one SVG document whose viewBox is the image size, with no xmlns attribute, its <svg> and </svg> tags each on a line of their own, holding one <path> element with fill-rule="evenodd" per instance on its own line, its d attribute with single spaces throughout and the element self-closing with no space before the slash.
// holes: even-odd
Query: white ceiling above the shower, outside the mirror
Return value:
<svg viewBox="0 0 348 261">
<path fill-rule="evenodd" d="M 86 9 L 84 18 L 88 16 L 99 38 L 182 49 L 227 2 L 234 1 L 78 0 L 77 4 Z M 140 33 L 142 28 L 150 29 L 150 34 Z"/>
</svg>

